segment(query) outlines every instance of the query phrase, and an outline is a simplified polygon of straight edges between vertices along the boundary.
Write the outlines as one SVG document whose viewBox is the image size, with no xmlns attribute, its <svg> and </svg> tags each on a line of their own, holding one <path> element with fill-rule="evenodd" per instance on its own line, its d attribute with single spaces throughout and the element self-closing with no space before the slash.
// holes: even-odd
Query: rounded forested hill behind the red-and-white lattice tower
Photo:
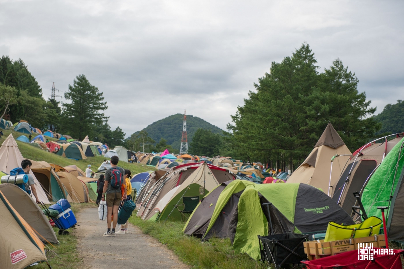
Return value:
<svg viewBox="0 0 404 269">
<path fill-rule="evenodd" d="M 160 138 L 164 138 L 167 140 L 167 145 L 171 145 L 174 149 L 179 151 L 179 147 L 181 146 L 183 120 L 183 114 L 175 114 L 162 120 L 153 122 L 143 130 L 145 130 L 149 134 L 149 137 L 151 137 L 154 141 L 158 142 Z M 211 130 L 213 133 L 221 135 L 223 134 L 223 130 L 221 128 L 210 124 L 206 120 L 202 120 L 201 118 L 194 117 L 192 115 L 187 115 L 188 147 L 196 130 L 199 128 Z"/>
</svg>

